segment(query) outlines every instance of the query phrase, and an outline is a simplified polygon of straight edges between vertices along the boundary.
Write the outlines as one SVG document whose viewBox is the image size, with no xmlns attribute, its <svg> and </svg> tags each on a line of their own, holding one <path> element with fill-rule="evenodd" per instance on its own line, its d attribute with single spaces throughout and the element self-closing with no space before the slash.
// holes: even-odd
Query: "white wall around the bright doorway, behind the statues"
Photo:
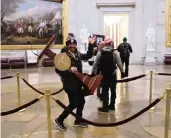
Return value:
<svg viewBox="0 0 171 138">
<path fill-rule="evenodd" d="M 68 30 L 73 32 L 79 41 L 79 31 L 86 24 L 90 33 L 103 33 L 103 12 L 107 8 L 96 7 L 97 3 L 132 3 L 135 8 L 124 8 L 129 15 L 129 42 L 133 47 L 132 63 L 140 63 L 145 55 L 145 32 L 151 22 L 156 30 L 156 55 L 163 60 L 165 53 L 171 50 L 165 48 L 165 0 L 68 0 Z M 117 11 L 117 8 L 109 8 Z M 162 22 L 163 25 L 159 25 Z"/>
</svg>

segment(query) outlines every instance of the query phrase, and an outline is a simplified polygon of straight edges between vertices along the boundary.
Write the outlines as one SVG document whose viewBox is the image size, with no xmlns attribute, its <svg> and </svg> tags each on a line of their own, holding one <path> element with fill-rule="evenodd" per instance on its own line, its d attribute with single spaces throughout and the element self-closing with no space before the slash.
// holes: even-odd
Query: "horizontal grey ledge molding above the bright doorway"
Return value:
<svg viewBox="0 0 171 138">
<path fill-rule="evenodd" d="M 135 2 L 132 3 L 96 3 L 97 8 L 102 7 L 132 7 L 134 8 L 136 5 Z"/>
</svg>

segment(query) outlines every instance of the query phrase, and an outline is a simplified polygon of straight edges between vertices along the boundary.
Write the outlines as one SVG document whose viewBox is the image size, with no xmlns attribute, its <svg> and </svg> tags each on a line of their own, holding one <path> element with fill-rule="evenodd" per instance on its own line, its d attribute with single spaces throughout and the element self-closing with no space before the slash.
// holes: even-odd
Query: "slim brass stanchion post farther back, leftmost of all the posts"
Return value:
<svg viewBox="0 0 171 138">
<path fill-rule="evenodd" d="M 16 73 L 17 76 L 17 97 L 18 97 L 18 107 L 21 105 L 21 97 L 20 97 L 20 73 Z M 22 109 L 19 112 L 24 112 L 26 109 Z"/>
</svg>

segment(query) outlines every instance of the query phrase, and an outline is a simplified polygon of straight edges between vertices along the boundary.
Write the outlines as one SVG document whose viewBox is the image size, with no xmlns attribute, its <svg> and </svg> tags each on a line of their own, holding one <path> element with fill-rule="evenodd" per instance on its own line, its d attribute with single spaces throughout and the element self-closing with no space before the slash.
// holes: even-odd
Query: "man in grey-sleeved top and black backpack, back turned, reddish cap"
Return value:
<svg viewBox="0 0 171 138">
<path fill-rule="evenodd" d="M 116 65 L 121 72 L 121 78 L 124 77 L 124 70 L 119 55 L 114 51 L 113 41 L 108 39 L 100 42 L 100 51 L 97 53 L 96 60 L 93 64 L 92 74 L 97 74 L 97 69 L 100 67 L 100 72 L 103 75 L 102 79 L 102 100 L 103 107 L 98 110 L 101 112 L 108 112 L 109 110 L 115 110 L 116 99 Z M 111 90 L 111 100 L 109 102 L 109 88 Z"/>
</svg>

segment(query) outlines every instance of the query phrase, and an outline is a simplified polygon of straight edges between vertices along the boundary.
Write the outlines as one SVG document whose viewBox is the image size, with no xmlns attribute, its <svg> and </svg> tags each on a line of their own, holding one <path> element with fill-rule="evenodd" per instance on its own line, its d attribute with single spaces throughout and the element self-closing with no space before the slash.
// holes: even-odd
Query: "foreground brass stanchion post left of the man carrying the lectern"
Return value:
<svg viewBox="0 0 171 138">
<path fill-rule="evenodd" d="M 49 89 L 46 90 L 46 107 L 47 107 L 47 121 L 48 121 L 48 138 L 52 138 L 50 90 Z"/>
</svg>

